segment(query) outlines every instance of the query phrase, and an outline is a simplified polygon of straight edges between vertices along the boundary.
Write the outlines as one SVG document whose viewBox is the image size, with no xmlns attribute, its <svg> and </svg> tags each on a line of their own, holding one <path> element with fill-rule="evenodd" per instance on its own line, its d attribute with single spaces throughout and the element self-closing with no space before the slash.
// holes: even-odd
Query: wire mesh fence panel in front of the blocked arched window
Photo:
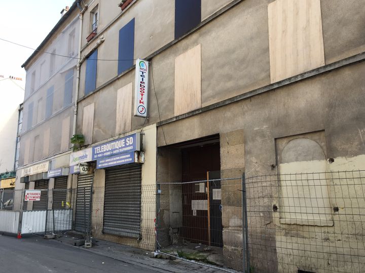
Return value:
<svg viewBox="0 0 365 273">
<path fill-rule="evenodd" d="M 365 171 L 246 178 L 250 264 L 263 272 L 364 272 Z"/>
</svg>

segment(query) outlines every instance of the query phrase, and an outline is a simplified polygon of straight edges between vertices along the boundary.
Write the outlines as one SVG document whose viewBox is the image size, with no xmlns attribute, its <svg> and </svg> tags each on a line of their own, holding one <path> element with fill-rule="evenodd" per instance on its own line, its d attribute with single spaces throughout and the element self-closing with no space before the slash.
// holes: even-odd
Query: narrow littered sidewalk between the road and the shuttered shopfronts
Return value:
<svg viewBox="0 0 365 273">
<path fill-rule="evenodd" d="M 70 236 L 63 236 L 55 239 L 63 244 L 79 248 L 85 251 L 93 252 L 98 255 L 113 258 L 125 263 L 138 265 L 148 269 L 153 269 L 158 272 L 227 272 L 226 270 L 237 272 L 232 269 L 220 270 L 208 266 L 203 266 L 197 263 L 188 262 L 185 260 L 169 260 L 169 259 L 157 259 L 151 258 L 151 252 L 147 250 L 142 250 L 138 248 L 133 248 L 125 245 L 120 245 L 116 243 L 106 242 L 98 240 L 95 245 L 91 248 L 84 248 L 83 246 L 74 246 L 74 241 L 76 238 Z"/>
</svg>

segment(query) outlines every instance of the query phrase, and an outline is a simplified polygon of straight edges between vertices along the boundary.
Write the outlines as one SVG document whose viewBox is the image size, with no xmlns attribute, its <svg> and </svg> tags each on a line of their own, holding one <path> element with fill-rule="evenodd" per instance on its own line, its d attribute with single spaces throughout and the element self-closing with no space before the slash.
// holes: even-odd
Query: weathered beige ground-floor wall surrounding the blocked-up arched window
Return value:
<svg viewBox="0 0 365 273">
<path fill-rule="evenodd" d="M 362 63 L 354 64 L 334 70 L 330 74 L 321 74 L 278 88 L 275 92 L 252 97 L 250 100 L 239 101 L 165 124 L 163 125 L 164 133 L 161 127 L 158 128 L 157 144 L 164 146 L 165 139 L 168 144 L 180 143 L 218 132 L 221 134 L 221 156 L 223 156 L 224 142 L 227 143 L 225 133 L 241 129 L 244 135 L 244 148 L 242 148 L 244 153 L 243 151 L 237 154 L 232 153 L 232 157 L 231 154 L 226 153 L 227 160 L 221 158 L 221 162 L 226 164 L 224 162 L 230 162 L 229 159 L 231 159 L 232 164 L 235 164 L 239 155 L 244 154 L 246 177 L 254 177 L 277 174 L 275 139 L 324 130 L 325 158 L 334 159 L 331 164 L 326 161 L 326 170 L 363 169 L 365 145 L 362 139 L 365 129 L 363 121 L 365 111 L 362 107 L 364 98 L 361 86 L 365 84 L 362 77 L 364 72 L 365 66 Z M 193 129 L 188 130 L 187 128 Z M 228 143 L 230 143 L 229 140 Z M 233 171 L 232 176 L 235 175 L 236 172 Z M 252 178 L 253 181 L 254 179 Z M 331 260 L 343 260 L 344 256 L 339 256 L 339 254 L 342 251 L 350 253 L 350 245 L 355 248 L 351 252 L 353 255 L 363 255 L 359 248 L 362 246 L 363 236 L 362 229 L 359 229 L 358 226 L 361 221 L 356 219 L 356 209 L 365 206 L 361 204 L 362 190 L 354 186 L 346 186 L 347 184 L 359 184 L 358 187 L 363 188 L 361 186 L 363 181 L 357 183 L 356 180 L 342 178 L 337 180 L 335 188 L 334 186 L 332 189 L 329 187 L 331 208 L 338 206 L 341 213 L 336 214 L 331 210 L 333 226 L 315 226 L 280 223 L 279 213 L 274 213 L 272 208 L 274 204 L 278 204 L 278 199 L 275 197 L 279 196 L 277 186 L 266 181 L 265 177 L 263 179 L 260 183 L 251 184 L 252 188 L 247 193 L 250 198 L 248 205 L 253 210 L 250 212 L 248 220 L 252 244 L 251 260 L 255 264 L 255 268 L 263 271 L 270 268 L 270 270 L 281 272 L 294 270 L 294 267 L 285 267 L 285 264 L 295 264 L 303 270 L 317 272 L 320 270 L 316 268 L 323 268 L 325 265 L 323 261 L 329 261 L 333 271 L 351 271 L 351 263 L 332 263 Z M 340 193 L 341 195 L 339 195 Z M 353 203 L 346 203 L 347 200 L 350 202 L 351 198 L 346 199 L 345 202 L 341 201 L 339 196 L 342 194 L 345 197 L 352 196 Z M 223 195 L 222 198 L 222 201 L 225 202 L 226 197 Z M 239 195 L 236 195 L 230 199 L 230 202 L 238 204 L 239 198 Z M 262 214 L 259 211 L 255 212 L 254 208 L 259 208 Z M 232 219 L 235 215 L 238 219 L 240 218 L 239 210 L 230 210 L 230 212 Z M 225 225 L 228 224 L 231 223 L 225 222 Z M 355 231 L 358 234 L 357 237 L 354 235 Z M 315 234 L 318 236 L 314 237 Z M 330 237 L 325 237 L 326 234 Z M 233 235 L 225 238 L 227 240 L 232 238 L 231 246 L 239 247 L 239 238 Z M 337 239 L 341 241 L 336 241 Z M 331 251 L 331 254 L 324 256 L 321 254 L 317 259 L 314 258 L 315 250 L 299 248 L 297 252 L 294 250 L 288 252 L 288 248 L 296 249 L 298 246 L 304 245 L 312 247 L 317 245 L 321 252 L 322 250 Z M 230 253 L 234 253 L 233 248 L 230 250 Z M 237 252 L 239 252 L 238 249 Z M 287 259 L 288 255 L 291 255 L 290 260 Z M 345 259 L 348 257 L 346 256 Z M 227 262 L 234 260 L 236 260 L 235 257 L 226 256 Z M 352 268 L 357 270 L 359 263 L 354 259 L 352 262 Z"/>
</svg>

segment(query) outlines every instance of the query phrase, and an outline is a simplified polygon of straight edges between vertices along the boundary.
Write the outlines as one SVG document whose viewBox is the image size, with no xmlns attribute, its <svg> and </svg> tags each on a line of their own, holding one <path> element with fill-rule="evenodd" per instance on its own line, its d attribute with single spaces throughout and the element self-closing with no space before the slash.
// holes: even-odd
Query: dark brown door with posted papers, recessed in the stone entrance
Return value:
<svg viewBox="0 0 365 273">
<path fill-rule="evenodd" d="M 181 156 L 182 237 L 193 243 L 222 246 L 221 200 L 212 200 L 213 190 L 220 189 L 221 184 L 220 181 L 214 181 L 207 187 L 206 182 L 209 173 L 213 176 L 210 179 L 220 178 L 219 139 L 213 143 L 183 148 L 181 149 Z M 184 184 L 200 180 L 201 182 Z M 209 213 L 208 207 L 210 207 Z"/>
</svg>

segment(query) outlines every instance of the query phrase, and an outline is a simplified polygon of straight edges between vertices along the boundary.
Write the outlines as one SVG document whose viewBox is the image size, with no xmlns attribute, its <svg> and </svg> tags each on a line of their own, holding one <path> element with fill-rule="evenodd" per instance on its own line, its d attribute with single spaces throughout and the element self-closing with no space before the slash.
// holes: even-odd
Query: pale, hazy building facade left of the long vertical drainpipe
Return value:
<svg viewBox="0 0 365 273">
<path fill-rule="evenodd" d="M 22 65 L 26 70 L 26 84 L 16 190 L 65 190 L 71 184 L 68 162 L 79 26 L 75 2 L 62 10 L 58 23 Z M 60 170 L 57 175 L 48 173 L 55 170 Z M 14 209 L 20 209 L 22 204 L 24 210 L 52 207 L 51 203 L 47 204 L 46 191 L 42 191 L 40 202 L 23 202 L 21 195 L 21 191 L 16 191 Z"/>
</svg>

